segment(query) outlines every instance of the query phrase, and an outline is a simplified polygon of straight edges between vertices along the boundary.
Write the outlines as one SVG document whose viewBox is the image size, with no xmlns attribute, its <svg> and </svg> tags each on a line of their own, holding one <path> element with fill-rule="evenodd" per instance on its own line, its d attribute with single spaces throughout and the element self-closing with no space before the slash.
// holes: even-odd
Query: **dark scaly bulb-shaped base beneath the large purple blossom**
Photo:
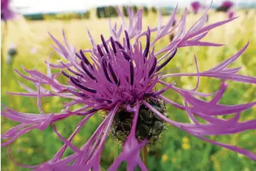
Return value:
<svg viewBox="0 0 256 171">
<path fill-rule="evenodd" d="M 164 102 L 159 99 L 148 99 L 147 101 L 162 115 L 167 116 Z M 131 131 L 133 117 L 133 113 L 126 111 L 125 108 L 120 109 L 115 115 L 111 126 L 111 135 L 117 142 L 124 143 L 127 139 Z M 136 123 L 136 139 L 139 141 L 148 139 L 149 144 L 153 144 L 159 139 L 164 128 L 165 123 L 162 119 L 159 119 L 145 105 L 140 106 L 139 117 Z"/>
</svg>

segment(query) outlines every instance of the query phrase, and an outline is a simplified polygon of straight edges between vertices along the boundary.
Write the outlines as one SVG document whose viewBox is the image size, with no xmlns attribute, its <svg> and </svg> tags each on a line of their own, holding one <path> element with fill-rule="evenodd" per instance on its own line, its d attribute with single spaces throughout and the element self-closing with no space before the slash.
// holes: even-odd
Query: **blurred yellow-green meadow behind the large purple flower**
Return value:
<svg viewBox="0 0 256 171">
<path fill-rule="evenodd" d="M 46 73 L 46 65 L 44 60 L 52 51 L 53 41 L 47 34 L 50 32 L 58 40 L 62 39 L 61 30 L 66 32 L 66 38 L 70 44 L 73 44 L 78 49 L 88 49 L 90 47 L 89 38 L 86 32 L 88 28 L 96 42 L 100 42 L 100 34 L 105 38 L 110 35 L 108 29 L 107 18 L 96 18 L 92 15 L 89 19 L 72 19 L 72 20 L 56 20 L 51 18 L 42 21 L 27 21 L 24 18 L 18 18 L 15 21 L 7 22 L 7 35 L 4 35 L 4 54 L 6 47 L 10 43 L 15 43 L 18 49 L 18 55 L 11 65 L 1 63 L 3 67 L 1 72 L 1 104 L 7 105 L 16 111 L 39 114 L 36 98 L 18 97 L 5 94 L 6 91 L 24 92 L 23 88 L 18 85 L 18 81 L 27 86 L 32 84 L 18 77 L 14 69 L 22 72 L 22 66 L 27 69 L 38 69 Z M 183 11 L 180 11 L 177 19 L 181 18 Z M 189 28 L 202 13 L 194 15 L 190 13 L 187 17 L 187 28 Z M 256 10 L 238 10 L 237 15 L 240 17 L 229 24 L 213 29 L 207 35 L 205 40 L 210 40 L 215 43 L 225 43 L 221 47 L 185 47 L 178 50 L 176 57 L 165 67 L 169 72 L 196 72 L 196 66 L 193 55 L 198 58 L 198 66 L 200 71 L 210 69 L 217 65 L 222 60 L 234 55 L 239 49 L 244 46 L 247 41 L 250 41 L 249 48 L 241 55 L 232 66 L 242 66 L 241 74 L 256 77 Z M 166 24 L 170 16 L 163 16 L 162 24 Z M 226 19 L 226 14 L 215 13 L 210 10 L 209 21 L 207 24 L 212 24 L 215 21 Z M 111 18 L 112 24 L 114 21 L 120 23 L 120 18 Z M 143 27 L 149 25 L 155 27 L 157 25 L 158 15 L 156 13 L 148 13 L 143 18 Z M 1 24 L 1 31 L 4 24 Z M 155 36 L 153 34 L 153 36 Z M 164 38 L 157 43 L 156 49 L 169 43 L 169 38 Z M 63 41 L 62 41 L 63 42 Z M 54 52 L 51 61 L 57 63 L 60 57 Z M 6 60 L 6 58 L 4 59 Z M 180 67 L 180 70 L 176 70 Z M 57 72 L 58 70 L 54 70 Z M 60 80 L 66 82 L 64 77 Z M 177 77 L 168 78 L 168 82 L 175 81 L 179 87 L 193 88 L 196 86 L 196 78 L 194 77 Z M 232 83 L 228 81 L 229 87 L 221 100 L 223 104 L 238 104 L 244 102 L 252 102 L 256 100 L 256 86 L 251 86 L 243 83 Z M 202 78 L 200 81 L 199 90 L 203 92 L 216 91 L 220 86 L 220 81 L 215 79 Z M 182 102 L 181 97 L 173 91 L 165 93 L 171 100 Z M 47 114 L 58 113 L 62 110 L 63 100 L 60 97 L 44 98 L 42 100 L 43 110 Z M 186 115 L 167 105 L 167 114 L 171 119 L 176 121 L 188 121 Z M 63 120 L 57 124 L 59 132 L 67 138 L 76 128 L 81 116 L 72 116 L 69 119 Z M 245 111 L 242 117 L 246 119 L 256 119 L 256 108 Z M 97 128 L 100 123 L 100 116 L 93 116 L 89 122 L 83 127 L 80 133 L 75 136 L 73 143 L 80 147 L 91 136 L 91 133 Z M 1 117 L 1 133 L 12 128 L 17 123 L 10 122 L 4 117 Z M 211 136 L 210 139 L 215 139 L 220 142 L 237 145 L 246 148 L 256 153 L 256 130 L 246 131 L 244 133 L 235 134 L 233 136 Z M 3 140 L 2 140 L 3 141 Z M 49 160 L 60 149 L 63 143 L 49 127 L 44 131 L 33 130 L 25 136 L 15 141 L 11 145 L 10 154 L 12 158 L 22 164 L 41 164 Z M 106 170 L 114 158 L 120 153 L 121 147 L 108 137 L 105 144 L 103 155 L 101 156 L 102 170 Z M 72 150 L 66 152 L 66 156 L 71 154 Z M 125 170 L 121 167 L 120 170 Z M 154 146 L 148 146 L 148 168 L 149 170 L 182 170 L 182 171 L 253 171 L 256 170 L 255 161 L 238 155 L 238 153 L 225 150 L 222 147 L 202 142 L 193 136 L 190 136 L 184 131 L 167 125 L 166 130 L 162 133 L 161 139 Z M 1 148 L 1 170 L 29 170 L 16 166 L 7 156 L 7 147 Z"/>
</svg>

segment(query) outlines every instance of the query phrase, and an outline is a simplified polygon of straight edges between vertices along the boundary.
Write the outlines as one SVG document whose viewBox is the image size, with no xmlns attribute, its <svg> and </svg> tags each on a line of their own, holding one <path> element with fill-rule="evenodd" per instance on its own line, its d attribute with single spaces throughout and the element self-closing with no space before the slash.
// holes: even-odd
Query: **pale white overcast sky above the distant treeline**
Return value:
<svg viewBox="0 0 256 171">
<path fill-rule="evenodd" d="M 145 4 L 147 6 L 190 6 L 192 0 L 12 0 L 12 6 L 18 7 L 20 13 L 46 13 L 72 10 L 87 10 L 91 7 L 101 5 L 121 5 L 121 4 Z M 210 4 L 211 0 L 199 0 Z M 214 0 L 214 4 L 221 4 L 224 0 Z M 256 0 L 232 0 L 235 4 L 252 4 Z"/>
</svg>

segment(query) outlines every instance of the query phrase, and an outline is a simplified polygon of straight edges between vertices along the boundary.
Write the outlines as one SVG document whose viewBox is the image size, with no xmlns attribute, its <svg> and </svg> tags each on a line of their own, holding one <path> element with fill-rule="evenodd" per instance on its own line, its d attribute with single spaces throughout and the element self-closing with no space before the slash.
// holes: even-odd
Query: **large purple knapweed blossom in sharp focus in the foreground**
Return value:
<svg viewBox="0 0 256 171">
<path fill-rule="evenodd" d="M 28 92 L 9 94 L 38 98 L 38 108 L 41 114 L 24 114 L 4 106 L 4 111 L 1 112 L 1 115 L 15 122 L 20 122 L 21 125 L 7 130 L 1 136 L 3 139 L 8 139 L 1 146 L 11 144 L 19 136 L 30 130 L 44 130 L 52 126 L 56 135 L 63 142 L 63 147 L 52 159 L 43 164 L 35 166 L 21 165 L 21 167 L 55 171 L 100 170 L 100 153 L 103 150 L 108 133 L 111 132 L 123 144 L 122 152 L 108 170 L 117 170 L 122 161 L 126 161 L 128 170 L 134 170 L 137 165 L 141 170 L 147 170 L 139 156 L 139 151 L 145 144 L 153 142 L 154 138 L 157 139 L 159 132 L 164 127 L 163 122 L 165 122 L 199 139 L 226 147 L 256 160 L 256 155 L 248 150 L 215 142 L 205 137 L 239 133 L 256 128 L 255 119 L 244 122 L 238 121 L 242 112 L 252 108 L 256 102 L 241 105 L 221 105 L 218 103 L 227 88 L 226 80 L 256 84 L 255 77 L 238 74 L 241 67 L 228 68 L 231 63 L 241 56 L 249 44 L 246 44 L 232 57 L 207 71 L 198 70 L 195 56 L 196 71 L 193 73 L 164 74 L 162 72 L 167 63 L 170 63 L 170 60 L 175 57 L 176 52 L 184 46 L 222 46 L 222 44 L 204 42 L 201 39 L 211 29 L 226 24 L 235 18 L 219 21 L 204 27 L 207 20 L 206 11 L 186 31 L 187 10 L 184 11 L 184 15 L 176 27 L 172 27 L 177 11 L 176 7 L 167 24 L 161 24 L 161 15 L 159 15 L 158 27 L 148 27 L 147 30 L 142 31 L 142 10 L 138 10 L 134 14 L 128 8 L 128 24 L 125 22 L 124 15 L 119 8 L 117 10 L 122 24 L 117 27 L 117 24 L 113 26 L 111 22 L 109 23 L 110 38 L 99 35 L 102 42 L 97 44 L 88 31 L 91 49 L 81 49 L 77 52 L 74 47 L 67 43 L 64 32 L 64 45 L 53 35 L 50 35 L 56 44 L 55 51 L 64 61 L 60 60 L 58 64 L 53 64 L 47 60 L 47 74 L 35 69 L 24 68 L 24 71 L 30 75 L 27 76 L 16 70 L 21 77 L 31 81 L 37 90 L 20 83 Z M 173 30 L 176 30 L 173 41 L 156 52 L 154 49 L 155 44 L 161 38 L 170 35 Z M 154 38 L 151 36 L 153 32 L 156 32 Z M 142 46 L 142 37 L 145 37 L 145 46 Z M 51 68 L 60 69 L 60 72 L 52 74 Z M 60 75 L 65 76 L 68 83 L 59 83 L 57 77 Z M 175 83 L 166 83 L 163 80 L 165 77 L 197 77 L 198 81 L 196 87 L 190 90 L 178 87 Z M 211 94 L 198 92 L 198 84 L 201 77 L 213 77 L 222 80 L 218 91 Z M 165 87 L 157 90 L 156 84 L 158 83 Z M 41 85 L 48 85 L 50 89 L 43 88 Z M 180 94 L 184 99 L 184 105 L 163 96 L 162 94 L 168 89 Z M 64 110 L 60 114 L 45 114 L 41 109 L 41 98 L 53 96 L 69 98 L 70 102 L 65 104 Z M 212 100 L 205 101 L 201 100 L 200 97 L 212 97 Z M 191 123 L 176 122 L 168 119 L 165 103 L 169 103 L 187 113 Z M 82 104 L 83 107 L 76 110 L 70 109 L 70 107 L 77 104 Z M 104 111 L 103 122 L 94 131 L 86 144 L 80 148 L 76 147 L 72 144 L 72 139 L 82 127 L 86 127 L 87 120 L 97 111 Z M 235 114 L 235 116 L 231 119 L 216 117 L 229 114 Z M 80 116 L 81 121 L 69 139 L 64 139 L 56 128 L 55 122 L 60 122 L 62 119 L 74 115 Z M 198 122 L 196 116 L 204 119 L 206 123 Z M 67 147 L 70 147 L 74 153 L 63 158 L 63 153 Z"/>
</svg>

